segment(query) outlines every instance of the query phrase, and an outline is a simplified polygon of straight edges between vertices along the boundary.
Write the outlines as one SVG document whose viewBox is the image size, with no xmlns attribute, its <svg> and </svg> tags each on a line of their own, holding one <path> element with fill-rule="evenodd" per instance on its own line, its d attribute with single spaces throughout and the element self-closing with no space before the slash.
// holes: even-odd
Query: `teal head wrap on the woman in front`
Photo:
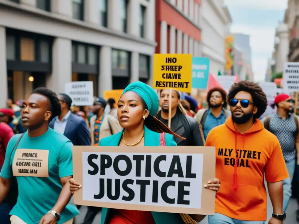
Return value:
<svg viewBox="0 0 299 224">
<path fill-rule="evenodd" d="M 149 115 L 156 115 L 159 109 L 159 98 L 152 87 L 143 82 L 132 82 L 123 90 L 123 94 L 129 91 L 137 93 L 144 100 L 149 110 Z"/>
</svg>

